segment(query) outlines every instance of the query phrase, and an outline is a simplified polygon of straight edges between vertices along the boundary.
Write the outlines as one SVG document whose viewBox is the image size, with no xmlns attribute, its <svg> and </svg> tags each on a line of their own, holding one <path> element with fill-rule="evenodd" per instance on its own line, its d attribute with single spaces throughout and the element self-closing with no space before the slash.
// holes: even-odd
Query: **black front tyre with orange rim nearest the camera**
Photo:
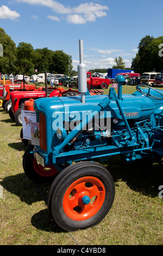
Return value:
<svg viewBox="0 0 163 256">
<path fill-rule="evenodd" d="M 90 194 L 90 202 L 82 201 L 85 193 Z M 101 222 L 114 197 L 114 181 L 108 170 L 98 163 L 79 162 L 62 170 L 53 181 L 48 210 L 62 229 L 75 231 Z"/>
</svg>

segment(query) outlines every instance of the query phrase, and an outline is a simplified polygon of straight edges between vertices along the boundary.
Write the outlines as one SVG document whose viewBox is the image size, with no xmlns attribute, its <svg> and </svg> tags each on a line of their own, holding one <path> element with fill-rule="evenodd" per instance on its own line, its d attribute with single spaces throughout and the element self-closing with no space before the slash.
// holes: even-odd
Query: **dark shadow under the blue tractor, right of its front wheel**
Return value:
<svg viewBox="0 0 163 256">
<path fill-rule="evenodd" d="M 145 196 L 158 197 L 159 186 L 163 180 L 163 164 L 151 163 L 150 160 L 137 160 L 124 164 L 118 157 L 105 162 L 104 166 L 109 170 L 114 182 L 122 180 L 136 192 Z"/>
</svg>

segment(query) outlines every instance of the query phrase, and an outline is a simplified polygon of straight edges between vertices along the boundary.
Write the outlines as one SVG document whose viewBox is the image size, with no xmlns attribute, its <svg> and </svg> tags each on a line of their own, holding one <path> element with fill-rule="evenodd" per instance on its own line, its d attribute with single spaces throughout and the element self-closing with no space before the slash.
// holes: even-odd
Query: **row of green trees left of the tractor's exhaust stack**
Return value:
<svg viewBox="0 0 163 256">
<path fill-rule="evenodd" d="M 0 57 L 0 72 L 2 74 L 23 74 L 30 76 L 44 73 L 70 75 L 72 72 L 72 57 L 63 51 L 52 51 L 48 48 L 35 49 L 27 42 L 16 44 L 10 36 L 0 28 L 0 44 L 3 46 L 3 56 Z"/>
</svg>

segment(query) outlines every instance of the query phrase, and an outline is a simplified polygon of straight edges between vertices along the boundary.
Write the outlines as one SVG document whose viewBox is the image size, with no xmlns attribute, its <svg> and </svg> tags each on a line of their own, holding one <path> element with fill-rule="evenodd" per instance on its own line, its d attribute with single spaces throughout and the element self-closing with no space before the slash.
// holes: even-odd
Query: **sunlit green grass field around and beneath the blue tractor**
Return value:
<svg viewBox="0 0 163 256">
<path fill-rule="evenodd" d="M 123 86 L 123 93 L 134 91 Z M 109 214 L 93 228 L 67 232 L 48 213 L 51 184 L 23 172 L 21 128 L 0 108 L 0 245 L 162 245 L 162 163 L 125 166 L 118 157 L 103 163 L 116 190 Z"/>
</svg>

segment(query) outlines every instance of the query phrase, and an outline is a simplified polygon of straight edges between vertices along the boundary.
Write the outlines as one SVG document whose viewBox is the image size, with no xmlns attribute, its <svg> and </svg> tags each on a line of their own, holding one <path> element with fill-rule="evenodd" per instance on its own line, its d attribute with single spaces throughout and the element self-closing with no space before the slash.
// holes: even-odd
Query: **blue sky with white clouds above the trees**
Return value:
<svg viewBox="0 0 163 256">
<path fill-rule="evenodd" d="M 74 70 L 79 39 L 87 70 L 112 68 L 119 56 L 130 68 L 140 40 L 162 35 L 162 6 L 162 0 L 0 0 L 0 27 L 16 46 L 70 54 Z"/>
</svg>

